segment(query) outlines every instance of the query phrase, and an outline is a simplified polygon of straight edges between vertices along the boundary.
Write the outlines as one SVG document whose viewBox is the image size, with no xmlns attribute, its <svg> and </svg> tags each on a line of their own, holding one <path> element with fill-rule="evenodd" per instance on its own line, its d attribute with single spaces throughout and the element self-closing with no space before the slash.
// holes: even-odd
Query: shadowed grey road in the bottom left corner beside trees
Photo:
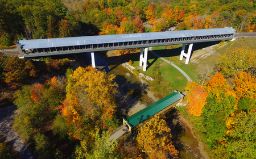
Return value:
<svg viewBox="0 0 256 159">
<path fill-rule="evenodd" d="M 14 131 L 14 129 L 11 127 L 11 125 L 7 122 L 5 118 L 5 115 L 7 115 L 8 118 L 10 118 L 10 114 L 14 115 L 15 112 L 13 113 L 13 111 L 15 111 L 16 109 L 17 108 L 15 105 L 0 109 L 0 132 L 6 137 L 6 139 L 8 139 L 11 142 L 11 144 L 13 144 L 13 147 L 19 153 L 20 158 L 33 159 L 34 157 L 27 149 L 26 145 L 19 138 L 18 134 Z"/>
</svg>

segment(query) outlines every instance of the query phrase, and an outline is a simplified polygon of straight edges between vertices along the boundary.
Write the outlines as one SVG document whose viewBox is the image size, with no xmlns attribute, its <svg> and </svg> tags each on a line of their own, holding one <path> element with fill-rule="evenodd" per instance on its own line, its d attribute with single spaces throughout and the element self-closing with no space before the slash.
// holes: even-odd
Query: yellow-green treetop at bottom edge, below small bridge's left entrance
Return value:
<svg viewBox="0 0 256 159">
<path fill-rule="evenodd" d="M 82 158 L 120 158 L 117 152 L 115 152 L 115 147 L 117 147 L 116 140 L 109 140 L 110 135 L 107 132 L 102 132 L 100 135 L 99 131 L 96 131 L 94 136 L 94 144 L 92 149 L 88 149 L 86 141 L 81 141 L 81 146 L 76 149 L 76 159 Z"/>
</svg>

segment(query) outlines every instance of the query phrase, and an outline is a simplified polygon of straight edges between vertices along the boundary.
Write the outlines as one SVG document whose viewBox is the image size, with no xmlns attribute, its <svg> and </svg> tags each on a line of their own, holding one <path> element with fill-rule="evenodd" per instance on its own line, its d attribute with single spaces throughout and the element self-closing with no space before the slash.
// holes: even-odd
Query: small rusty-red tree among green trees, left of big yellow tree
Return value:
<svg viewBox="0 0 256 159">
<path fill-rule="evenodd" d="M 43 99 L 43 91 L 46 90 L 46 87 L 44 87 L 44 85 L 38 83 L 36 85 L 34 85 L 31 88 L 31 99 L 33 99 L 33 101 L 35 103 L 39 103 L 42 99 Z"/>
</svg>

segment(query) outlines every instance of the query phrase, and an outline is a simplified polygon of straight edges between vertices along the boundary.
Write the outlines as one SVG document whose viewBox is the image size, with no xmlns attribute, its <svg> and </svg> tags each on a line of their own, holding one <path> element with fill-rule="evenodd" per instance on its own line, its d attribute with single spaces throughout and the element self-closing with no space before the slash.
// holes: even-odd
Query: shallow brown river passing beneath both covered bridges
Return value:
<svg viewBox="0 0 256 159">
<path fill-rule="evenodd" d="M 118 60 L 119 57 L 114 58 L 114 56 L 116 56 L 114 52 L 108 52 L 108 57 L 96 55 L 95 59 L 96 65 L 100 65 L 100 70 L 105 71 L 107 75 L 116 75 L 115 82 L 119 86 L 118 102 L 123 105 L 122 113 L 130 116 L 156 102 L 157 99 L 147 89 L 147 84 L 124 68 Z M 203 158 L 197 139 L 192 135 L 191 129 L 181 122 L 176 108 L 166 112 L 166 121 L 172 129 L 172 141 L 175 148 L 179 150 L 179 158 Z"/>
</svg>

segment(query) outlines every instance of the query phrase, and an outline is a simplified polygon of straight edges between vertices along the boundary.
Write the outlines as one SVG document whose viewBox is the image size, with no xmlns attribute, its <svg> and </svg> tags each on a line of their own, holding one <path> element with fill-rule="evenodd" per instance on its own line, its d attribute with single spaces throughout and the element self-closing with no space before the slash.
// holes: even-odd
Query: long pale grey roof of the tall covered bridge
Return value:
<svg viewBox="0 0 256 159">
<path fill-rule="evenodd" d="M 185 30 L 185 31 L 166 31 L 166 32 L 143 32 L 137 34 L 118 34 L 118 35 L 97 35 L 97 36 L 79 36 L 79 37 L 63 37 L 54 39 L 35 39 L 23 40 L 20 39 L 18 43 L 22 45 L 22 49 L 35 48 L 53 48 L 53 47 L 67 47 L 76 45 L 88 44 L 108 44 L 120 43 L 129 41 L 142 40 L 156 40 L 156 39 L 170 39 L 177 37 L 193 37 L 193 36 L 207 36 L 207 35 L 222 35 L 234 34 L 234 29 L 216 28 L 207 30 Z"/>
</svg>

